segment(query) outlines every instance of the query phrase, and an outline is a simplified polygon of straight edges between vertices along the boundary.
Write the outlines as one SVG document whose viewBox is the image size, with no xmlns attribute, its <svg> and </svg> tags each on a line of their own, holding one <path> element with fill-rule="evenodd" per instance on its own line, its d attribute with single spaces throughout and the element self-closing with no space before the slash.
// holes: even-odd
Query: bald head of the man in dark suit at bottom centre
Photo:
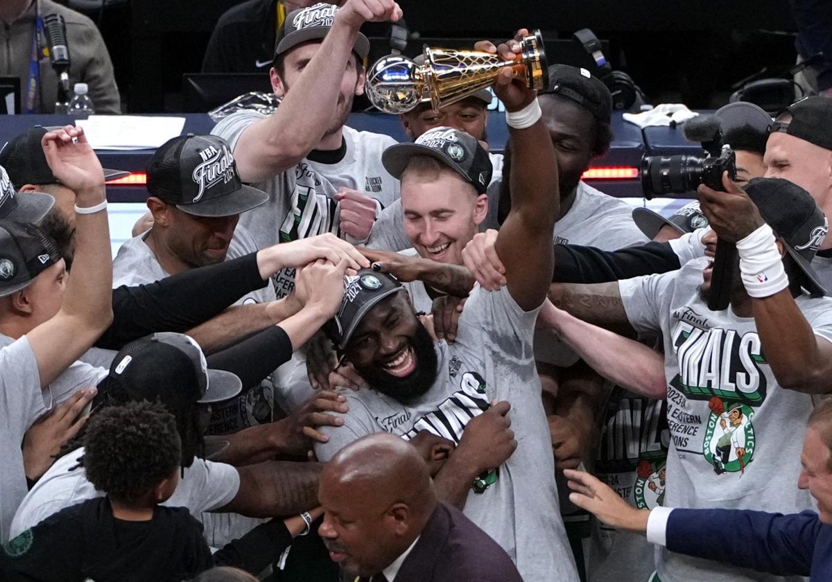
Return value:
<svg viewBox="0 0 832 582">
<path fill-rule="evenodd" d="M 428 465 L 387 433 L 345 446 L 320 475 L 329 556 L 349 575 L 379 573 L 411 545 L 436 508 Z"/>
</svg>

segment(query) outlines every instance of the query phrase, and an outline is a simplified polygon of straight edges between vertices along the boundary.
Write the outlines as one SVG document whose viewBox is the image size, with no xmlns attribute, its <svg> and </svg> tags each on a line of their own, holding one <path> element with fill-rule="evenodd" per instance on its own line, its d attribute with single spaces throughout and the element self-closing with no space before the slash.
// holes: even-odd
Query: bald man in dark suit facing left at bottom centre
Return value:
<svg viewBox="0 0 832 582">
<path fill-rule="evenodd" d="M 319 534 L 350 576 L 372 582 L 522 582 L 508 554 L 462 512 L 436 498 L 417 448 L 379 432 L 324 467 Z"/>
</svg>

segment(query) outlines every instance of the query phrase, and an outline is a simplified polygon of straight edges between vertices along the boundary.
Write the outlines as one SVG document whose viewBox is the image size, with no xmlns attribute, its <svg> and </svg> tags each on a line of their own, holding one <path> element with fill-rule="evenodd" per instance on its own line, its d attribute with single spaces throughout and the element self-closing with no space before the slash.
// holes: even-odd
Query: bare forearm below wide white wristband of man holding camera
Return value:
<svg viewBox="0 0 832 582">
<path fill-rule="evenodd" d="M 789 289 L 752 298 L 762 352 L 780 386 L 797 392 L 832 392 L 832 343 L 815 335 Z"/>
</svg>

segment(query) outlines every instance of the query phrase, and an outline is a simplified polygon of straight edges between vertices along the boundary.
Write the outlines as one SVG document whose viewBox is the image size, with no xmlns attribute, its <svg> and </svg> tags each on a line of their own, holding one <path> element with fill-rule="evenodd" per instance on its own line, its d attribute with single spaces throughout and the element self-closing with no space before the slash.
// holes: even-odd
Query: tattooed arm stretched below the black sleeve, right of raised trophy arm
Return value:
<svg viewBox="0 0 832 582">
<path fill-rule="evenodd" d="M 617 281 L 590 285 L 554 283 L 549 286 L 549 299 L 556 307 L 585 322 L 622 335 L 635 335 L 626 317 Z"/>
</svg>

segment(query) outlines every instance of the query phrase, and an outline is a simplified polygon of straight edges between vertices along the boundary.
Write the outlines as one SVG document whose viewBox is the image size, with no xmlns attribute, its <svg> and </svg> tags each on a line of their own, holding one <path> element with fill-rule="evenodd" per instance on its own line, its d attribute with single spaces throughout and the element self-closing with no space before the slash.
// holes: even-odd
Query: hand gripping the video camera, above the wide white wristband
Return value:
<svg viewBox="0 0 832 582">
<path fill-rule="evenodd" d="M 724 192 L 717 192 L 701 184 L 696 189 L 702 214 L 708 219 L 717 238 L 729 243 L 745 239 L 763 225 L 764 221 L 754 202 L 740 186 L 722 174 Z"/>
</svg>

